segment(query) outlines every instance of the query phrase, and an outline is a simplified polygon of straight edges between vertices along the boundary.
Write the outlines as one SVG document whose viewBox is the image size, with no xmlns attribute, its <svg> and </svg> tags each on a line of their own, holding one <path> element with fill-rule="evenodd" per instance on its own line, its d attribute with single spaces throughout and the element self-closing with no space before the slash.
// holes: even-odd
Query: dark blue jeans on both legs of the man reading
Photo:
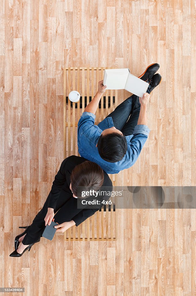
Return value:
<svg viewBox="0 0 196 296">
<path fill-rule="evenodd" d="M 150 85 L 146 92 L 150 93 Z M 115 128 L 122 131 L 124 136 L 130 136 L 133 135 L 134 127 L 138 124 L 140 107 L 139 97 L 133 94 L 118 105 L 107 117 L 112 117 Z"/>
</svg>

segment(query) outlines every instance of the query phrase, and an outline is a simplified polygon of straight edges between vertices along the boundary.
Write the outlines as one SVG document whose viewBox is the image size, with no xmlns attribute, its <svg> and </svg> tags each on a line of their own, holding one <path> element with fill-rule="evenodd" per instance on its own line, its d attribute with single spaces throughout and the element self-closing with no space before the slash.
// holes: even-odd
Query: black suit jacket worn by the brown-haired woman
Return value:
<svg viewBox="0 0 196 296">
<path fill-rule="evenodd" d="M 73 197 L 73 194 L 70 190 L 70 175 L 71 171 L 75 168 L 76 165 L 86 161 L 84 157 L 79 157 L 76 155 L 71 155 L 63 160 L 61 163 L 60 169 L 55 176 L 53 185 L 49 195 L 48 207 L 55 209 L 58 197 L 61 193 L 61 190 L 65 192 L 65 203 L 66 208 L 69 208 L 68 213 L 66 213 L 65 221 L 74 220 L 76 226 L 85 221 L 88 217 L 92 216 L 96 211 L 98 211 L 103 204 L 100 206 L 96 205 L 95 209 L 84 208 L 77 209 L 77 199 Z M 102 186 L 109 186 L 112 191 L 112 181 L 110 180 L 107 173 L 104 171 L 104 183 Z M 102 196 L 104 200 L 108 200 L 110 195 Z"/>
</svg>

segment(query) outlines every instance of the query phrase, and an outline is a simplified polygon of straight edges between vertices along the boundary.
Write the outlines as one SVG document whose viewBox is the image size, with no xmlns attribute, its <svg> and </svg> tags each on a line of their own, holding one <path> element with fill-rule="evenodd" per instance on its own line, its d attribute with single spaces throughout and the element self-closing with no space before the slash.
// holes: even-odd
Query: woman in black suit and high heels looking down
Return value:
<svg viewBox="0 0 196 296">
<path fill-rule="evenodd" d="M 73 225 L 78 226 L 103 206 L 101 203 L 96 209 L 78 208 L 76 198 L 79 186 L 94 190 L 110 186 L 112 190 L 112 181 L 99 165 L 83 157 L 72 155 L 64 159 L 43 208 L 30 226 L 19 227 L 26 230 L 15 237 L 15 250 L 11 257 L 21 257 L 26 250 L 30 251 L 32 245 L 40 241 L 45 226 L 54 221 L 54 215 L 55 222 L 59 224 L 55 226 L 58 228 L 56 231 L 64 232 Z M 108 200 L 109 197 L 102 199 Z"/>
</svg>

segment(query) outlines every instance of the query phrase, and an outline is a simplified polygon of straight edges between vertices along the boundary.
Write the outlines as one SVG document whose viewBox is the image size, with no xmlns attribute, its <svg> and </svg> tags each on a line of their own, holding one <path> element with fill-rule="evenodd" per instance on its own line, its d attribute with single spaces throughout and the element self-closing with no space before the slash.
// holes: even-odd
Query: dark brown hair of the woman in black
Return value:
<svg viewBox="0 0 196 296">
<path fill-rule="evenodd" d="M 92 161 L 86 160 L 76 165 L 70 175 L 71 190 L 76 196 L 80 196 L 78 187 L 84 187 L 98 190 L 104 182 L 104 173 L 102 168 Z M 83 189 L 84 189 L 83 188 Z"/>
</svg>

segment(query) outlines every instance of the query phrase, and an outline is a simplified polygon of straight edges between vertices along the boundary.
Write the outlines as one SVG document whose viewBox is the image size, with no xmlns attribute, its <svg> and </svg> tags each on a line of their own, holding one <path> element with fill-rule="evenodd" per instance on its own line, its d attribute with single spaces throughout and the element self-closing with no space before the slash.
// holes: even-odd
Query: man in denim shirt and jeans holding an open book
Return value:
<svg viewBox="0 0 196 296">
<path fill-rule="evenodd" d="M 78 151 L 108 174 L 119 173 L 130 168 L 141 152 L 148 135 L 147 103 L 152 90 L 161 82 L 161 75 L 155 74 L 159 64 L 146 68 L 140 79 L 149 83 L 142 98 L 130 96 L 97 125 L 95 113 L 107 86 L 98 83 L 98 91 L 86 106 L 78 122 Z"/>
</svg>

